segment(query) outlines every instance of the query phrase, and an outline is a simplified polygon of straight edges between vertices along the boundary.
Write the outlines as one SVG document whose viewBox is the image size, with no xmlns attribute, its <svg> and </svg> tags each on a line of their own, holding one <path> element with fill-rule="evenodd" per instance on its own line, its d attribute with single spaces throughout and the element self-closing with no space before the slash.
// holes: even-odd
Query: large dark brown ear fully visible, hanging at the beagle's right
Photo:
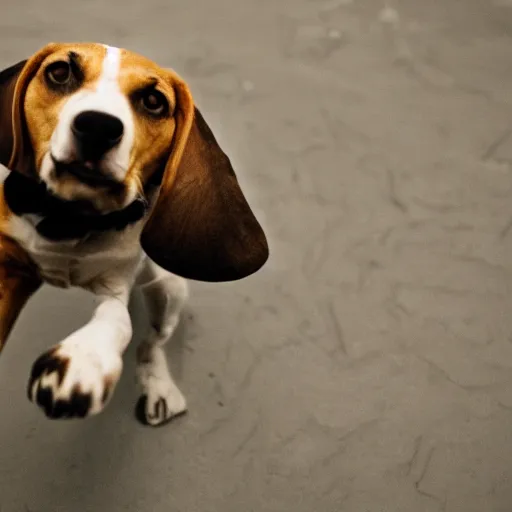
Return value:
<svg viewBox="0 0 512 512">
<path fill-rule="evenodd" d="M 266 262 L 265 234 L 188 87 L 179 78 L 174 84 L 173 148 L 142 247 L 158 265 L 188 279 L 242 279 Z"/>
</svg>

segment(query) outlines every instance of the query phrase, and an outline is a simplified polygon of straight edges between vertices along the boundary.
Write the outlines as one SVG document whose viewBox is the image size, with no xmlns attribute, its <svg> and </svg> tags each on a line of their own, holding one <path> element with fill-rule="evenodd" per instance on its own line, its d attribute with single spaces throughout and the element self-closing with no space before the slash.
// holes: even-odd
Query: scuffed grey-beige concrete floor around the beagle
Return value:
<svg viewBox="0 0 512 512">
<path fill-rule="evenodd" d="M 272 256 L 193 283 L 159 430 L 133 349 L 99 417 L 28 403 L 92 311 L 43 289 L 0 359 L 1 512 L 512 510 L 512 1 L 384 4 L 3 0 L 1 66 L 96 40 L 178 70 Z"/>
</svg>

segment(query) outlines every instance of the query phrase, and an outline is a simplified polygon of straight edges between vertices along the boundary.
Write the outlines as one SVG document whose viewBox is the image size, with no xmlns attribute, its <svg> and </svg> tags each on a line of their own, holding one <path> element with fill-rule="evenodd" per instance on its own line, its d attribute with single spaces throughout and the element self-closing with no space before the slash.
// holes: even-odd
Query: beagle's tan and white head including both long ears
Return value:
<svg viewBox="0 0 512 512">
<path fill-rule="evenodd" d="M 186 83 L 132 52 L 50 44 L 0 73 L 0 163 L 98 213 L 156 200 L 141 236 L 167 270 L 231 281 L 265 235 Z"/>
</svg>

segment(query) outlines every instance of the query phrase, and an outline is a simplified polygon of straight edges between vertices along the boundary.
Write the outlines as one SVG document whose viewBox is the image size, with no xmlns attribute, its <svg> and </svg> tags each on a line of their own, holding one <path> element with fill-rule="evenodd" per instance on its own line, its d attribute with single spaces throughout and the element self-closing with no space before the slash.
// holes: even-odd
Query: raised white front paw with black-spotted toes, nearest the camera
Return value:
<svg viewBox="0 0 512 512">
<path fill-rule="evenodd" d="M 92 416 L 112 396 L 122 366 L 118 354 L 94 342 L 64 341 L 34 363 L 28 397 L 49 418 Z"/>
</svg>

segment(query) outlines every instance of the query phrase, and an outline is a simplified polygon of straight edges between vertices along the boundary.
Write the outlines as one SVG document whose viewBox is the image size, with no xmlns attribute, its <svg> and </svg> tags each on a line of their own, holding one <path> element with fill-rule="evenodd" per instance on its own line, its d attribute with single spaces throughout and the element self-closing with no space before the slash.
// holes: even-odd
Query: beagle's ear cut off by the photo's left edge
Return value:
<svg viewBox="0 0 512 512">
<path fill-rule="evenodd" d="M 34 172 L 34 156 L 25 123 L 25 93 L 43 60 L 55 49 L 55 44 L 49 44 L 29 60 L 0 73 L 0 162 L 23 174 Z"/>
</svg>

